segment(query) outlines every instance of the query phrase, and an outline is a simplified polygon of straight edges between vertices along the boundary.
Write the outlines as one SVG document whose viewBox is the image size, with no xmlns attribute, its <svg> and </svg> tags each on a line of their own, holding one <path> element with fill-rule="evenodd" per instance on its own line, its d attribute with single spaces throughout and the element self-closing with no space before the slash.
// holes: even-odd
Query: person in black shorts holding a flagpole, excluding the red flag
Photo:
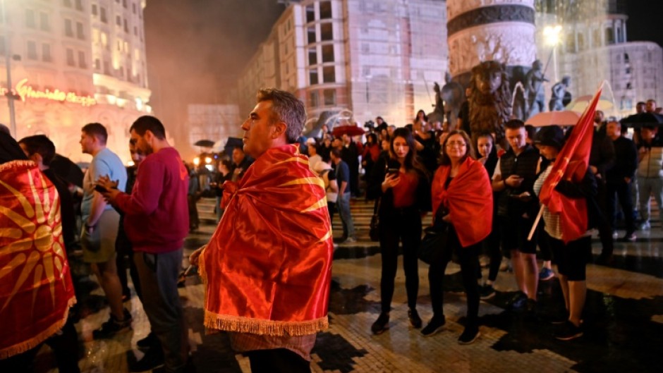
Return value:
<svg viewBox="0 0 663 373">
<path fill-rule="evenodd" d="M 540 174 L 534 183 L 534 191 L 539 195 L 543 183 L 545 183 L 553 169 L 554 160 L 561 148 L 564 147 L 564 133 L 558 126 L 544 127 L 536 134 L 534 143 L 541 155 L 550 161 L 547 169 Z M 588 211 L 588 226 L 591 227 L 595 226 L 593 224 L 594 219 L 589 218 L 597 216 L 596 213 L 598 212 L 597 204 L 593 200 L 593 196 L 596 195 L 596 188 L 594 174 L 587 171 L 585 178 L 580 183 L 562 179 L 556 185 L 555 190 L 568 198 L 588 200 L 588 209 L 585 211 Z M 592 214 L 592 212 L 595 213 Z M 583 307 L 585 307 L 585 295 L 587 293 L 585 267 L 592 250 L 592 236 L 590 233 L 585 233 L 580 238 L 564 243 L 562 216 L 552 214 L 548 207 L 544 207 L 542 216 L 546 233 L 543 239 L 548 240 L 549 246 L 552 248 L 559 273 L 559 284 L 562 293 L 564 293 L 564 302 L 568 312 L 568 319 L 564 319 L 560 328 L 555 331 L 555 338 L 569 341 L 583 335 L 580 328 L 582 322 L 580 317 L 582 317 Z"/>
</svg>

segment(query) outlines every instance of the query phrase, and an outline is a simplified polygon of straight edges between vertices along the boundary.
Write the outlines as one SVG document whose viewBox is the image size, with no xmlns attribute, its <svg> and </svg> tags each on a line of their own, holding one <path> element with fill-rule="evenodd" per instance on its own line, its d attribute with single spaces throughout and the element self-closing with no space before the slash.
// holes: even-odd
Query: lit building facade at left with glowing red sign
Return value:
<svg viewBox="0 0 663 373">
<path fill-rule="evenodd" d="M 59 154 L 87 161 L 78 145 L 80 128 L 99 122 L 109 131 L 108 147 L 129 161 L 128 128 L 151 111 L 142 19 L 146 0 L 2 4 L 0 90 L 13 93 L 13 135 L 47 135 Z M 8 99 L 5 95 L 0 102 L 0 121 L 7 126 Z"/>
</svg>

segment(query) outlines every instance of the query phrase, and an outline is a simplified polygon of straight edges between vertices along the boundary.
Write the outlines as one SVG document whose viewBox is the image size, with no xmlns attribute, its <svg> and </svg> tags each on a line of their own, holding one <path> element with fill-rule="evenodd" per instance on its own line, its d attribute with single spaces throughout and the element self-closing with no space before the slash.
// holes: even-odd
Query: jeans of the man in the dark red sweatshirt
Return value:
<svg viewBox="0 0 663 373">
<path fill-rule="evenodd" d="M 188 357 L 188 331 L 177 291 L 182 249 L 150 254 L 135 252 L 140 276 L 142 307 L 164 350 L 166 372 L 182 372 Z"/>
</svg>

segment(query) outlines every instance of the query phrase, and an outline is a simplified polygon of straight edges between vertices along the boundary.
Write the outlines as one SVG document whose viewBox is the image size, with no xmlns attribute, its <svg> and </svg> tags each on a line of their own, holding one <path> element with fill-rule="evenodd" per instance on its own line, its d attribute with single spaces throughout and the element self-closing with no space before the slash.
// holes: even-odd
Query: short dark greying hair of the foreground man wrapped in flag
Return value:
<svg viewBox="0 0 663 373">
<path fill-rule="evenodd" d="M 257 102 L 272 102 L 272 123 L 286 123 L 286 142 L 293 144 L 304 130 L 306 110 L 304 103 L 290 92 L 276 88 L 263 88 L 258 91 Z"/>
</svg>

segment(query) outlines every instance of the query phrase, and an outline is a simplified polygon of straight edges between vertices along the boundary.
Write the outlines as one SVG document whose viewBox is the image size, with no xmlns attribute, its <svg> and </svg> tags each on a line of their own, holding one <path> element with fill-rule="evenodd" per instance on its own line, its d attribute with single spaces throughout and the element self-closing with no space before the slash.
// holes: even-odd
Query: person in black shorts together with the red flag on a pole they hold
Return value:
<svg viewBox="0 0 663 373">
<path fill-rule="evenodd" d="M 535 144 L 543 157 L 554 161 L 535 182 L 542 204 L 541 215 L 545 221 L 545 238 L 554 252 L 559 272 L 559 283 L 564 293 L 568 317 L 555 331 L 555 337 L 568 341 L 583 335 L 580 324 L 585 295 L 587 293 L 585 267 L 592 249 L 588 233 L 588 203 L 597 205 L 594 173 L 588 170 L 592 135 L 592 119 L 600 92 L 580 117 L 564 144 L 561 128 L 542 128 L 535 137 Z"/>
</svg>

